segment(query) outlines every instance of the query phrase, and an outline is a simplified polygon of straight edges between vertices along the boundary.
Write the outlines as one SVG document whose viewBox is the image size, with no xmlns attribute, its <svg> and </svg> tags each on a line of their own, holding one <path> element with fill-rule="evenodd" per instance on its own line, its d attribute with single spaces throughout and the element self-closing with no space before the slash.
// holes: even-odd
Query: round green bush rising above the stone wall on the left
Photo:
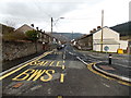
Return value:
<svg viewBox="0 0 131 98">
<path fill-rule="evenodd" d="M 37 30 L 27 30 L 25 33 L 25 35 L 27 36 L 27 39 L 29 39 L 32 41 L 36 41 L 38 39 L 38 32 Z"/>
</svg>

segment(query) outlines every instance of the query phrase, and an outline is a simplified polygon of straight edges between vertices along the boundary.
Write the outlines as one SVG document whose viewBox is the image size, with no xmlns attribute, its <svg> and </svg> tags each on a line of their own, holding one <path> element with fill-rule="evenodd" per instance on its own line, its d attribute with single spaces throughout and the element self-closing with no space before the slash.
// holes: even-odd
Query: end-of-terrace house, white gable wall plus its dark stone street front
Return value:
<svg viewBox="0 0 131 98">
<path fill-rule="evenodd" d="M 102 29 L 103 29 L 103 40 L 102 40 Z M 118 49 L 126 50 L 128 47 L 128 41 L 120 40 L 120 34 L 107 26 L 95 29 L 94 32 L 91 32 L 91 34 L 82 37 L 76 41 L 78 45 L 80 45 L 80 47 L 81 45 L 83 45 L 87 49 L 94 51 L 102 51 L 103 49 L 104 52 L 106 51 L 117 52 Z"/>
</svg>

